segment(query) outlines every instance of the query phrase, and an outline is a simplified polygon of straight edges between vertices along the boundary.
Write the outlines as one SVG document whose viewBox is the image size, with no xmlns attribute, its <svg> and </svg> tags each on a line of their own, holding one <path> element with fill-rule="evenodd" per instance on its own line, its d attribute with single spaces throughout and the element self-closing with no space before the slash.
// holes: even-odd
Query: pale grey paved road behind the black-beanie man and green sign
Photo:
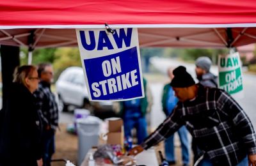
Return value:
<svg viewBox="0 0 256 166">
<path fill-rule="evenodd" d="M 173 68 L 183 65 L 186 66 L 187 70 L 195 78 L 195 65 L 184 63 L 181 61 L 175 61 L 165 58 L 153 58 L 150 61 L 157 70 L 162 73 L 166 73 L 168 67 Z M 212 73 L 218 74 L 218 68 L 216 66 L 212 67 Z M 196 80 L 196 79 L 195 79 Z M 254 128 L 256 128 L 256 75 L 251 75 L 248 73 L 243 73 L 243 85 L 244 85 L 244 98 L 237 100 L 237 102 L 243 107 L 244 111 L 250 117 Z M 164 119 L 164 115 L 161 112 L 161 92 L 163 89 L 163 83 L 159 82 L 157 84 L 150 85 L 152 93 L 154 95 L 154 105 L 152 112 L 152 126 L 155 127 Z"/>
</svg>

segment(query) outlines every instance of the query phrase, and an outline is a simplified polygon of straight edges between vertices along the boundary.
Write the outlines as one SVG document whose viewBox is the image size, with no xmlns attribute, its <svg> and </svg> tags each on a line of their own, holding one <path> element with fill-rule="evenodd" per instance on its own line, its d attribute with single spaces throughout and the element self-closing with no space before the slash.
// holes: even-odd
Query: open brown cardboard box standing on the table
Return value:
<svg viewBox="0 0 256 166">
<path fill-rule="evenodd" d="M 108 119 L 108 144 L 124 145 L 124 123 L 121 118 Z"/>
</svg>

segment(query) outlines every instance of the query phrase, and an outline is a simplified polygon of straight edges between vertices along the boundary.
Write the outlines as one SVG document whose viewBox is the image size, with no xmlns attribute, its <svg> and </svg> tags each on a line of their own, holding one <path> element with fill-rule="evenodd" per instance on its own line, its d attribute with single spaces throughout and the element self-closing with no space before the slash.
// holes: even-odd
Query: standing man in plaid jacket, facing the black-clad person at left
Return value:
<svg viewBox="0 0 256 166">
<path fill-rule="evenodd" d="M 38 90 L 34 95 L 37 99 L 40 112 L 43 119 L 43 163 L 44 166 L 51 165 L 51 157 L 55 151 L 54 135 L 58 128 L 58 106 L 55 101 L 55 96 L 51 92 L 51 82 L 53 79 L 52 65 L 43 63 L 38 65 L 38 77 L 40 83 Z"/>
</svg>

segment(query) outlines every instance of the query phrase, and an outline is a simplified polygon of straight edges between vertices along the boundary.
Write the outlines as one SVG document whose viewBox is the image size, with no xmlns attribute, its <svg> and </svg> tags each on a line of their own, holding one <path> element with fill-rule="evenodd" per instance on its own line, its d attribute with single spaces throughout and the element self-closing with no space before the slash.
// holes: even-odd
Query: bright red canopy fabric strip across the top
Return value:
<svg viewBox="0 0 256 166">
<path fill-rule="evenodd" d="M 254 24 L 256 19 L 253 0 L 1 0 L 0 8 L 0 26 Z"/>
</svg>

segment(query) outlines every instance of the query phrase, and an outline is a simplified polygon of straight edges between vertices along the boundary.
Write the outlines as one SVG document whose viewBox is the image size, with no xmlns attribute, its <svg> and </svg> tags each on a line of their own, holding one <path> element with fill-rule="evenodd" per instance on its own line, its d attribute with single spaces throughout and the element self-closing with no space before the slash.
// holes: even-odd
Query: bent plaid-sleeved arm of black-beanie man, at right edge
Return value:
<svg viewBox="0 0 256 166">
<path fill-rule="evenodd" d="M 243 144 L 248 151 L 248 155 L 252 155 L 252 157 L 249 157 L 249 160 L 251 158 L 252 161 L 249 162 L 255 163 L 256 135 L 249 117 L 240 105 L 225 91 L 221 91 L 217 103 L 218 109 L 221 110 L 223 114 L 227 114 L 227 116 L 232 117 L 236 131 L 243 140 Z"/>
</svg>

